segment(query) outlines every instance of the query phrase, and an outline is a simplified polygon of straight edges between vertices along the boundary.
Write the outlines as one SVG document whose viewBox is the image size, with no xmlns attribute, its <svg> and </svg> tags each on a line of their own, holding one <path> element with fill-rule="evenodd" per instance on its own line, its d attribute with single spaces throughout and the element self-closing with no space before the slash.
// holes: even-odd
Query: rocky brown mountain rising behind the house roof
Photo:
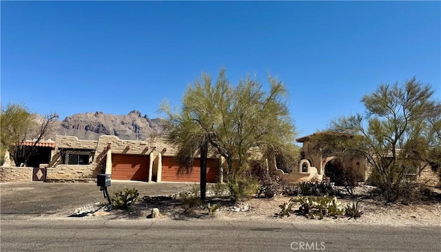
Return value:
<svg viewBox="0 0 441 252">
<path fill-rule="evenodd" d="M 161 136 L 162 133 L 163 124 L 160 118 L 150 119 L 134 110 L 123 116 L 103 112 L 74 114 L 59 122 L 54 135 L 76 136 L 81 140 L 98 140 L 101 135 L 114 135 L 125 140 L 144 140 Z"/>
</svg>

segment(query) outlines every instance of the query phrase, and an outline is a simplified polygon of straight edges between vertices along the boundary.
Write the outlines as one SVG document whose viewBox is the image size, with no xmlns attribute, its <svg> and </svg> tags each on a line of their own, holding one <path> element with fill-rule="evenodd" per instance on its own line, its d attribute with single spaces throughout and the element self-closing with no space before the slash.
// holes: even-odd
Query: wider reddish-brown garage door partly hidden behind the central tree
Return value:
<svg viewBox="0 0 441 252">
<path fill-rule="evenodd" d="M 201 180 L 201 158 L 195 158 L 192 172 L 190 174 L 178 174 L 179 165 L 173 157 L 163 156 L 162 158 L 162 181 L 167 182 L 200 182 Z M 218 178 L 219 162 L 216 158 L 207 159 L 207 182 L 214 183 Z"/>
</svg>

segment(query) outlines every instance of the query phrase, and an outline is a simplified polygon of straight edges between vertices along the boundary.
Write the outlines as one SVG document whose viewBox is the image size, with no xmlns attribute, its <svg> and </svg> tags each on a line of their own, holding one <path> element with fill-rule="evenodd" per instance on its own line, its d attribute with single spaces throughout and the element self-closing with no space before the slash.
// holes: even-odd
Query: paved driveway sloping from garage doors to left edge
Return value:
<svg viewBox="0 0 441 252">
<path fill-rule="evenodd" d="M 185 183 L 147 183 L 114 181 L 108 187 L 109 194 L 121 191 L 123 187 L 136 188 L 139 196 L 158 196 L 191 191 L 192 184 Z M 21 215 L 43 216 L 56 214 L 69 216 L 79 207 L 95 202 L 107 202 L 103 192 L 94 182 L 46 183 L 21 182 L 0 183 L 1 219 L 19 218 Z"/>
</svg>

